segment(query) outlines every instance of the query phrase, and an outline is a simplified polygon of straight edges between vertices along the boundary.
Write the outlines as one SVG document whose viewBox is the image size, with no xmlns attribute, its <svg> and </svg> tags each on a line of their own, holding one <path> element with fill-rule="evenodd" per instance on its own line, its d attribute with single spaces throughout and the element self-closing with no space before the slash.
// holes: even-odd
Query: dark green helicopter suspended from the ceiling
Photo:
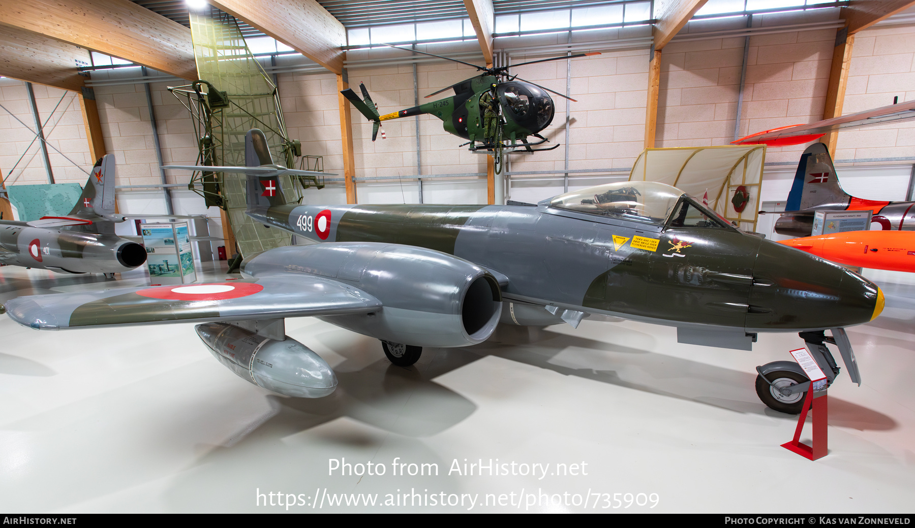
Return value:
<svg viewBox="0 0 915 528">
<path fill-rule="evenodd" d="M 511 151 L 523 148 L 528 152 L 536 152 L 553 150 L 559 146 L 554 145 L 544 149 L 533 148 L 547 141 L 538 132 L 544 130 L 553 121 L 555 107 L 553 98 L 547 92 L 565 97 L 567 100 L 576 101 L 557 91 L 550 90 L 529 80 L 519 79 L 516 75 L 510 75 L 508 69 L 551 60 L 600 55 L 599 52 L 579 53 L 571 56 L 531 60 L 498 68 L 487 68 L 456 58 L 442 57 L 415 49 L 398 48 L 390 44 L 387 46 L 459 62 L 476 68 L 482 73 L 478 77 L 462 80 L 458 84 L 425 96 L 429 98 L 443 91 L 453 89 L 455 90 L 455 95 L 451 97 L 384 115 L 379 114 L 378 107 L 372 102 L 365 85 L 360 84 L 362 99 L 351 89 L 341 91 L 340 93 L 352 102 L 356 110 L 360 111 L 369 121 L 374 121 L 371 141 L 375 141 L 375 138 L 378 137 L 381 121 L 428 113 L 442 120 L 442 128 L 446 132 L 469 140 L 468 143 L 460 146 L 470 145 L 468 149 L 471 151 L 485 150 L 492 153 L 496 174 L 501 172 L 502 153 L 505 149 Z M 537 138 L 537 141 L 529 141 L 528 138 L 532 136 Z"/>
</svg>

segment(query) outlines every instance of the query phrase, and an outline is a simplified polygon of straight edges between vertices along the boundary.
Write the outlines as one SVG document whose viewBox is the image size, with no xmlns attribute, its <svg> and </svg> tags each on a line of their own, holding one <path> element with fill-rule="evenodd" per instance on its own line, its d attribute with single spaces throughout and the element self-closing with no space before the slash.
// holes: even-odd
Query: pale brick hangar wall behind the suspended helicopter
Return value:
<svg viewBox="0 0 915 528">
<path fill-rule="evenodd" d="M 823 11 L 806 14 L 779 14 L 755 17 L 754 26 L 771 26 L 808 20 L 822 20 Z M 834 11 L 834 16 L 837 11 Z M 735 19 L 705 21 L 687 26 L 686 32 L 707 31 L 714 27 L 739 27 Z M 630 32 L 637 29 L 628 30 Z M 622 35 L 628 37 L 630 35 Z M 595 40 L 602 34 L 576 34 L 576 40 Z M 501 48 L 565 43 L 565 34 L 537 37 L 503 38 Z M 752 37 L 748 54 L 747 84 L 740 135 L 777 126 L 822 119 L 824 95 L 834 44 L 834 30 L 786 32 Z M 727 144 L 733 139 L 737 111 L 737 91 L 743 57 L 742 37 L 716 38 L 669 44 L 662 53 L 662 79 L 659 101 L 658 146 L 692 146 Z M 480 62 L 475 41 L 436 45 L 428 49 L 445 55 L 469 54 L 468 62 Z M 498 50 L 498 48 L 497 48 Z M 350 60 L 365 58 L 366 51 L 350 52 Z M 371 50 L 372 56 L 403 57 L 396 50 Z M 472 58 L 476 57 L 476 58 Z M 511 62 L 519 63 L 544 55 L 511 52 Z M 284 60 L 292 58 L 279 58 Z M 600 169 L 631 166 L 641 152 L 644 135 L 644 111 L 648 79 L 648 50 L 606 52 L 592 58 L 572 60 L 569 143 L 570 169 Z M 563 60 L 520 67 L 512 73 L 556 91 L 565 92 Z M 423 96 L 476 74 L 474 69 L 454 63 L 425 63 L 417 67 L 417 83 Z M 136 69 L 96 72 L 93 79 L 134 77 Z M 373 68 L 350 68 L 350 87 L 359 91 L 364 82 L 380 111 L 387 113 L 414 106 L 412 67 L 393 64 Z M 845 97 L 845 113 L 889 104 L 892 97 L 915 98 L 915 25 L 876 26 L 856 37 L 855 54 Z M 281 101 L 290 136 L 301 140 L 307 154 L 324 156 L 329 173 L 342 174 L 342 149 L 339 141 L 337 84 L 333 74 L 285 73 L 278 76 Z M 188 111 L 166 90 L 167 83 L 151 85 L 159 125 L 160 141 L 166 163 L 193 164 L 197 158 L 197 138 Z M 38 108 L 42 119 L 63 94 L 61 90 L 36 85 Z M 118 164 L 118 185 L 159 183 L 152 128 L 147 115 L 143 85 L 120 85 L 95 89 L 102 132 L 109 153 Z M 438 97 L 446 97 L 443 93 Z M 512 156 L 512 171 L 561 170 L 565 156 L 565 100 L 554 97 L 556 114 L 543 132 L 552 145 L 562 146 L 551 152 Z M 13 111 L 29 126 L 33 122 L 23 83 L 0 79 L 0 104 Z M 79 101 L 67 94 L 48 123 L 48 142 L 88 170 L 88 145 L 82 124 Z M 416 140 L 414 118 L 385 121 L 387 139 L 371 142 L 371 122 L 351 109 L 356 175 L 389 176 L 416 174 Z M 38 145 L 27 145 L 31 134 L 5 112 L 0 111 L 0 169 L 4 176 L 16 159 L 27 155 L 7 184 L 37 184 L 47 181 Z M 458 148 L 463 140 L 442 129 L 442 122 L 424 115 L 419 120 L 422 174 L 479 173 L 486 170 L 485 154 L 469 153 Z M 772 148 L 768 161 L 796 161 L 805 145 Z M 869 130 L 842 132 L 839 136 L 839 159 L 898 157 L 915 155 L 915 123 L 883 125 Z M 58 182 L 85 181 L 85 174 L 59 154 L 51 153 L 55 179 Z M 169 183 L 188 181 L 188 174 L 168 174 Z M 543 184 L 553 188 L 553 183 Z M 541 185 L 531 183 L 531 185 Z M 361 184 L 360 201 L 415 199 L 415 183 Z M 443 182 L 426 184 L 426 200 L 457 202 L 485 200 L 485 183 Z M 458 192 L 472 188 L 469 195 Z M 435 189 L 435 191 L 433 191 Z M 314 196 L 314 197 L 312 197 Z M 318 197 L 322 196 L 322 197 Z M 309 200 L 342 202 L 340 189 L 308 193 Z"/>
</svg>

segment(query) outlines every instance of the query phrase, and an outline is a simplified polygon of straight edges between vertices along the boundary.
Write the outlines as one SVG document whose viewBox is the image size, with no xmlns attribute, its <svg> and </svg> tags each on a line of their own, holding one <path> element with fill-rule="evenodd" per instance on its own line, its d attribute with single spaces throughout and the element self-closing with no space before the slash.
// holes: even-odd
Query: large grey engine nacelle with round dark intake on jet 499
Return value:
<svg viewBox="0 0 915 528">
<path fill-rule="evenodd" d="M 382 309 L 321 319 L 383 341 L 454 347 L 489 339 L 501 316 L 499 282 L 486 269 L 434 249 L 353 242 L 275 248 L 244 273 L 298 271 L 346 282 L 382 301 Z"/>
</svg>

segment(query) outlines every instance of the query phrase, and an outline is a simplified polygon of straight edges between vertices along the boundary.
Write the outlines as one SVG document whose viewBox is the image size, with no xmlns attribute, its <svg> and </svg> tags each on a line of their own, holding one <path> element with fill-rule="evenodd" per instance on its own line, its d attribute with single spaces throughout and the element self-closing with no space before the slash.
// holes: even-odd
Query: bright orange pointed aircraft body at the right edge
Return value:
<svg viewBox="0 0 915 528">
<path fill-rule="evenodd" d="M 846 266 L 915 271 L 915 231 L 848 231 L 780 243 Z"/>
</svg>

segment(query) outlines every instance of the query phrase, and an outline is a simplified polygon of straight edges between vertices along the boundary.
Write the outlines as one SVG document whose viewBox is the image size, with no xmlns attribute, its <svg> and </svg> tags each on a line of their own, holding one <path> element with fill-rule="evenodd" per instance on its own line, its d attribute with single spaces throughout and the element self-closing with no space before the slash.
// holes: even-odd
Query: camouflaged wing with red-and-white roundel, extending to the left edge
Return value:
<svg viewBox="0 0 915 528">
<path fill-rule="evenodd" d="M 373 312 L 382 303 L 337 280 L 289 273 L 249 280 L 31 295 L 7 301 L 5 307 L 19 324 L 59 330 L 342 315 Z"/>
</svg>

